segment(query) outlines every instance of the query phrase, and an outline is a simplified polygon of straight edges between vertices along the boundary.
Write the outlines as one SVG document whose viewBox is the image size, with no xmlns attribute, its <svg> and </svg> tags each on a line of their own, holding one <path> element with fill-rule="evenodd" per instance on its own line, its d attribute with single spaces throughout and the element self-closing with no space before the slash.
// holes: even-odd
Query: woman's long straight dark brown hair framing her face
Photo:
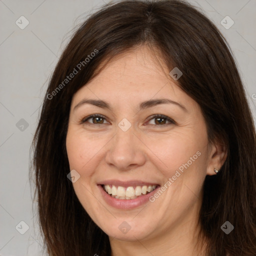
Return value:
<svg viewBox="0 0 256 256">
<path fill-rule="evenodd" d="M 179 0 L 127 0 L 105 5 L 79 26 L 63 51 L 33 140 L 35 194 L 48 254 L 110 255 L 107 234 L 88 216 L 67 178 L 69 109 L 73 94 L 99 72 L 104 60 L 143 44 L 157 48 L 169 70 L 177 66 L 182 71 L 178 85 L 200 105 L 209 141 L 218 139 L 227 147 L 221 171 L 206 176 L 203 186 L 200 225 L 209 239 L 206 255 L 255 256 L 253 118 L 227 42 L 208 18 Z M 95 50 L 97 54 L 83 62 L 82 70 L 63 83 Z M 64 85 L 56 90 L 61 83 Z M 226 220 L 234 226 L 228 235 L 220 229 Z"/>
</svg>

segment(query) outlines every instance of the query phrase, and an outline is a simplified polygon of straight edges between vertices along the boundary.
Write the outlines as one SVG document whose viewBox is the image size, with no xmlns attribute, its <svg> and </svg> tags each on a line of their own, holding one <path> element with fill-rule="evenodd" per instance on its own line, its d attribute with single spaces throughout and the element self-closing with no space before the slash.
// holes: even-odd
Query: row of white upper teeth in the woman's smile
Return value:
<svg viewBox="0 0 256 256">
<path fill-rule="evenodd" d="M 114 186 L 114 185 L 104 185 L 104 190 L 118 199 L 134 199 L 137 196 L 142 194 L 146 194 L 147 192 L 151 192 L 155 189 L 156 185 L 143 185 L 136 186 L 135 189 L 133 186 L 128 186 L 126 189 L 123 186 Z M 128 197 L 128 198 L 126 198 Z"/>
</svg>

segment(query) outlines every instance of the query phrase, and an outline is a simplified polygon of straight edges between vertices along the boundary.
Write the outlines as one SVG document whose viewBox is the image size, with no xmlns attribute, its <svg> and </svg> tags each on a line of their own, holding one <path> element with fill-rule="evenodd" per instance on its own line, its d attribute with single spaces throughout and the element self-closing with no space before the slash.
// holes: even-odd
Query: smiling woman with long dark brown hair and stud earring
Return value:
<svg viewBox="0 0 256 256">
<path fill-rule="evenodd" d="M 91 15 L 34 149 L 49 255 L 256 255 L 252 115 L 228 44 L 186 2 Z"/>
</svg>

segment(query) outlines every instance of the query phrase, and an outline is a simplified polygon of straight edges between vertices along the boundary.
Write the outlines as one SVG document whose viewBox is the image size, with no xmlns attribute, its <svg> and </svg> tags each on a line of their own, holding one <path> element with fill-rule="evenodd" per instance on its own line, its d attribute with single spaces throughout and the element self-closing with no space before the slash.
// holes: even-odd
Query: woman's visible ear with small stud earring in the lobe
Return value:
<svg viewBox="0 0 256 256">
<path fill-rule="evenodd" d="M 211 143 L 208 154 L 207 175 L 216 174 L 214 168 L 220 170 L 227 157 L 227 147 L 222 141 Z"/>
</svg>

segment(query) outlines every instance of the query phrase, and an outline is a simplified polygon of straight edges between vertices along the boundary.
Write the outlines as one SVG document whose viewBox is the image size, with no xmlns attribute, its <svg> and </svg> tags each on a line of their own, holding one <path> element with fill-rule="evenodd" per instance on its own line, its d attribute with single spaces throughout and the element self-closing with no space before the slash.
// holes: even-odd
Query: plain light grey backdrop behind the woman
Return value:
<svg viewBox="0 0 256 256">
<path fill-rule="evenodd" d="M 29 148 L 38 110 L 71 29 L 105 2 L 0 0 L 1 256 L 42 255 L 37 216 L 32 211 L 33 190 L 28 181 Z M 229 42 L 255 117 L 256 0 L 189 2 L 200 7 Z M 24 29 L 15 23 L 18 20 L 24 25 L 21 15 L 29 21 Z M 220 23 L 226 15 L 234 21 L 229 29 Z M 228 20 L 224 22 L 230 24 Z M 29 226 L 24 234 L 20 232 L 25 231 L 25 224 L 20 221 Z"/>
</svg>

